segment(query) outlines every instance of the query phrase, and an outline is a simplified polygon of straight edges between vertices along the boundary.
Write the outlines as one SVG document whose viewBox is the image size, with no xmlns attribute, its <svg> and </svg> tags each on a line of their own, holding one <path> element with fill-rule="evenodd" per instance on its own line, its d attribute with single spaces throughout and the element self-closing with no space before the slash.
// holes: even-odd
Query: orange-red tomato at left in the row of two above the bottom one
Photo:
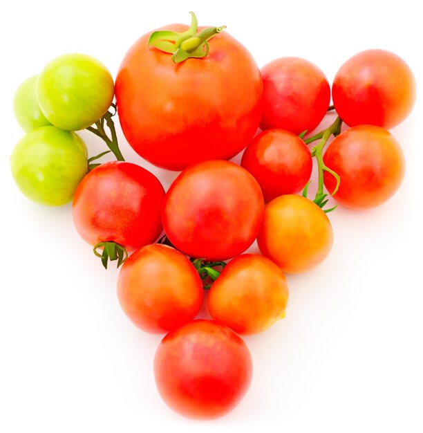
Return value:
<svg viewBox="0 0 423 433">
<path fill-rule="evenodd" d="M 203 301 L 203 284 L 185 255 L 156 243 L 140 248 L 124 262 L 118 297 L 136 326 L 164 333 L 194 319 Z"/>
</svg>

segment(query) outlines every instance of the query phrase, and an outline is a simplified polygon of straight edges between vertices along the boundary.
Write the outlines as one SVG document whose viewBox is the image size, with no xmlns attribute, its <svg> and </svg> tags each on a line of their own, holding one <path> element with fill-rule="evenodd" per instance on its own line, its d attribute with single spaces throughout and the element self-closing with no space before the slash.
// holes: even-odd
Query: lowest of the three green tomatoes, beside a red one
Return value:
<svg viewBox="0 0 423 433">
<path fill-rule="evenodd" d="M 64 205 L 72 200 L 87 172 L 86 145 L 75 132 L 41 127 L 17 143 L 10 166 L 28 199 L 42 205 Z"/>
</svg>

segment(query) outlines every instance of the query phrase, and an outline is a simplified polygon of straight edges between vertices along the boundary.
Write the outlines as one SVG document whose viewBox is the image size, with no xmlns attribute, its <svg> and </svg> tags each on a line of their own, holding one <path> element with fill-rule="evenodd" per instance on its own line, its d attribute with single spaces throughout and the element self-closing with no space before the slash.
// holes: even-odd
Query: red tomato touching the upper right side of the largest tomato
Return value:
<svg viewBox="0 0 423 433">
<path fill-rule="evenodd" d="M 261 68 L 263 116 L 261 129 L 312 131 L 330 103 L 330 85 L 323 72 L 308 60 L 281 57 Z"/>
</svg>

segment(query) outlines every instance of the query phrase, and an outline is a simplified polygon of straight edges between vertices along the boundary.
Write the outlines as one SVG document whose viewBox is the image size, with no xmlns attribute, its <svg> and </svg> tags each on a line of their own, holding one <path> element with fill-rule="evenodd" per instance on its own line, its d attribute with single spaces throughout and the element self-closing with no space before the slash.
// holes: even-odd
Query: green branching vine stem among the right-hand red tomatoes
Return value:
<svg viewBox="0 0 423 433">
<path fill-rule="evenodd" d="M 331 107 L 330 107 L 331 109 Z M 310 144 L 311 142 L 314 142 L 316 140 L 320 140 L 319 143 L 316 146 L 313 146 L 311 149 L 311 155 L 316 158 L 317 160 L 317 170 L 319 172 L 319 186 L 317 188 L 317 192 L 316 192 L 316 196 L 314 197 L 313 202 L 316 203 L 319 208 L 321 208 L 323 210 L 323 212 L 325 212 L 326 214 L 328 212 L 332 212 L 332 210 L 335 210 L 335 208 L 337 208 L 337 205 L 335 205 L 333 208 L 330 209 L 323 209 L 323 207 L 326 205 L 326 203 L 328 203 L 328 199 L 326 199 L 326 197 L 328 196 L 328 194 L 326 192 L 323 192 L 323 173 L 324 172 L 328 172 L 330 174 L 332 174 L 333 177 L 335 177 L 335 179 L 337 180 L 337 185 L 335 187 L 335 190 L 333 190 L 332 192 L 332 196 L 336 194 L 338 188 L 339 188 L 339 183 L 341 183 L 341 179 L 339 178 L 339 175 L 337 173 L 335 173 L 332 169 L 330 169 L 329 167 L 327 167 L 325 165 L 325 163 L 323 163 L 323 149 L 326 146 L 326 143 L 328 142 L 330 136 L 338 136 L 339 133 L 341 133 L 341 126 L 342 126 L 342 120 L 339 116 L 337 116 L 335 122 L 332 123 L 332 125 L 330 125 L 330 127 L 323 129 L 323 131 L 318 132 L 317 134 L 315 134 L 314 136 L 307 138 L 306 140 L 304 140 L 304 142 L 306 143 L 306 145 Z M 303 139 L 303 136 L 306 134 L 306 131 L 302 132 L 299 136 L 300 138 Z M 303 197 L 307 197 L 307 192 L 308 192 L 308 186 L 310 185 L 311 181 L 308 181 L 308 183 L 306 184 L 306 186 L 304 187 L 303 190 Z"/>
</svg>

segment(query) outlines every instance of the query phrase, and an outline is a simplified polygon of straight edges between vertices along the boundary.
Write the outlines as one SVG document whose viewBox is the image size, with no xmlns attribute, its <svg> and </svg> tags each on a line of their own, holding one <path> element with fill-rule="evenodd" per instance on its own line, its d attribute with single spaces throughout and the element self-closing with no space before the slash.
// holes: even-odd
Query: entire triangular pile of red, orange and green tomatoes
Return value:
<svg viewBox="0 0 423 433">
<path fill-rule="evenodd" d="M 77 232 L 105 268 L 113 260 L 122 266 L 124 313 L 146 332 L 167 334 L 154 360 L 165 403 L 215 418 L 241 401 L 252 379 L 238 334 L 261 333 L 284 317 L 285 273 L 328 256 L 330 196 L 359 210 L 400 187 L 404 155 L 388 129 L 411 112 L 415 80 L 397 55 L 367 50 L 339 68 L 331 91 L 307 60 L 281 57 L 260 70 L 224 26 L 198 28 L 192 12 L 191 19 L 140 37 L 115 82 L 81 54 L 57 57 L 23 82 L 14 109 L 26 135 L 10 164 L 28 199 L 73 201 Z M 312 133 L 332 110 L 335 122 Z M 182 170 L 167 192 L 124 160 L 116 113 L 142 158 Z M 81 129 L 108 150 L 88 158 Z M 228 161 L 243 149 L 241 165 Z M 116 161 L 99 163 L 109 152 Z M 255 240 L 261 255 L 243 254 Z M 194 320 L 205 293 L 212 320 Z"/>
</svg>

